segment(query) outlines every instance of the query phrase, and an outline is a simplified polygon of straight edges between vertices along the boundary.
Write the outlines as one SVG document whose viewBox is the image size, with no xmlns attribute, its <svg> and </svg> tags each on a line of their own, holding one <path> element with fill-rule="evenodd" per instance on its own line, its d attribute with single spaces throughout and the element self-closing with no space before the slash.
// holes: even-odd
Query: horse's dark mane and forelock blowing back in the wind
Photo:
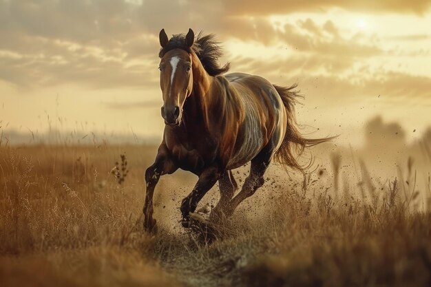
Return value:
<svg viewBox="0 0 431 287">
<path fill-rule="evenodd" d="M 230 63 L 220 67 L 218 59 L 222 56 L 223 52 L 222 48 L 218 44 L 219 42 L 214 39 L 214 34 L 203 35 L 202 32 L 200 32 L 193 45 L 188 47 L 186 45 L 185 35 L 176 34 L 169 39 L 169 42 L 165 47 L 160 49 L 158 56 L 162 58 L 162 56 L 165 56 L 165 54 L 170 50 L 178 48 L 185 50 L 189 54 L 194 52 L 204 66 L 205 71 L 207 71 L 210 76 L 217 76 L 226 73 L 231 67 Z"/>
</svg>

